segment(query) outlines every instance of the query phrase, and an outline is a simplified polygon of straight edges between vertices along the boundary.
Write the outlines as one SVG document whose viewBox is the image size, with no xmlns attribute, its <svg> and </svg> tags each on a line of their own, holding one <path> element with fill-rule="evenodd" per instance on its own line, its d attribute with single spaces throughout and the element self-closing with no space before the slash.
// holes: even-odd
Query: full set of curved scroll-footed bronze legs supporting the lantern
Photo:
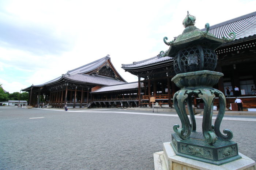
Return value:
<svg viewBox="0 0 256 170">
<path fill-rule="evenodd" d="M 220 124 L 222 118 L 225 113 L 225 106 L 226 106 L 226 99 L 224 94 L 214 88 L 210 87 L 198 87 L 198 88 L 183 88 L 180 91 L 177 91 L 173 96 L 173 103 L 176 109 L 176 112 L 181 120 L 182 127 L 180 125 L 175 124 L 173 126 L 173 130 L 175 133 L 179 135 L 181 139 L 188 139 L 191 131 L 196 131 L 196 121 L 195 116 L 193 115 L 192 109 L 192 96 L 198 95 L 204 102 L 204 114 L 203 114 L 203 135 L 204 139 L 210 145 L 214 144 L 217 140 L 217 137 L 224 140 L 229 141 L 233 137 L 233 133 L 228 130 L 224 129 L 223 133 L 226 135 L 221 134 L 220 132 Z M 213 100 L 215 96 L 219 97 L 219 112 L 217 118 L 215 120 L 214 125 L 212 125 L 212 112 L 213 112 Z M 185 105 L 188 106 L 188 111 L 191 119 L 191 123 L 189 122 Z"/>
</svg>

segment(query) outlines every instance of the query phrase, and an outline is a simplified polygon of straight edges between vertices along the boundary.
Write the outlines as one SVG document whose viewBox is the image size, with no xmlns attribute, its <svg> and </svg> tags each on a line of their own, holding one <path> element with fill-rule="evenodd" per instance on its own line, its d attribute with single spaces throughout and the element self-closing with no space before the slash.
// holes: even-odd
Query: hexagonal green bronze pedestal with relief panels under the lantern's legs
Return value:
<svg viewBox="0 0 256 170">
<path fill-rule="evenodd" d="M 182 140 L 173 133 L 171 144 L 176 155 L 214 165 L 222 165 L 241 158 L 236 142 L 217 139 L 214 145 L 208 145 L 203 134 L 199 132 L 192 132 L 187 140 Z"/>
</svg>

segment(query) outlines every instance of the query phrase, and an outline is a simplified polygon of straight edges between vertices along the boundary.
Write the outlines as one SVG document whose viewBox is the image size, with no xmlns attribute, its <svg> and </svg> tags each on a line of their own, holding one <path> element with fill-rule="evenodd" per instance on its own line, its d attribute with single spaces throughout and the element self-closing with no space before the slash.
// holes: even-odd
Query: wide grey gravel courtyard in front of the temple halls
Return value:
<svg viewBox="0 0 256 170">
<path fill-rule="evenodd" d="M 256 160 L 255 117 L 226 118 L 221 129 L 232 130 L 239 152 Z M 202 131 L 202 116 L 196 121 Z M 0 169 L 154 169 L 153 153 L 171 141 L 177 123 L 172 112 L 0 107 Z"/>
</svg>

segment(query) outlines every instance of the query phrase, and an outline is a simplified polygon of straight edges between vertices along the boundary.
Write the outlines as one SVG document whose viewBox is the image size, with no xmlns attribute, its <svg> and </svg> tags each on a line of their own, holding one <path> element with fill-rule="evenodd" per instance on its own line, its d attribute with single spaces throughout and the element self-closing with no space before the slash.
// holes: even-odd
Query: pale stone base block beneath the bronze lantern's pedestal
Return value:
<svg viewBox="0 0 256 170">
<path fill-rule="evenodd" d="M 172 142 L 163 143 L 163 151 L 154 153 L 155 170 L 255 170 L 256 163 L 252 159 L 239 153 L 241 159 L 213 165 L 176 155 Z"/>
</svg>

